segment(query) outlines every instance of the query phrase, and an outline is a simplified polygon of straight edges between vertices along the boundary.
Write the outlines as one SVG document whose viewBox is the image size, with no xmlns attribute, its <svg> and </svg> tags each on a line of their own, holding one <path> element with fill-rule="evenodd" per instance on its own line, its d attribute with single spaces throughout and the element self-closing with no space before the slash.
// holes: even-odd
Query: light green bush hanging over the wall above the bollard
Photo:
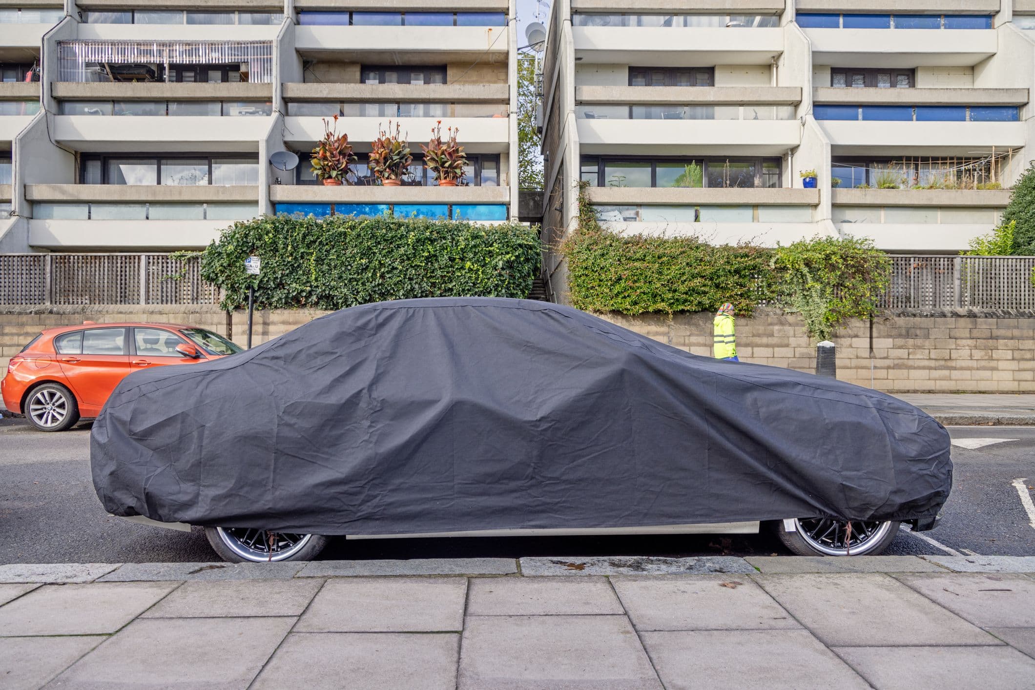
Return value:
<svg viewBox="0 0 1035 690">
<path fill-rule="evenodd" d="M 814 237 L 778 246 L 772 261 L 776 301 L 801 312 L 809 335 L 830 337 L 846 319 L 878 311 L 891 278 L 891 260 L 869 239 Z"/>
</svg>

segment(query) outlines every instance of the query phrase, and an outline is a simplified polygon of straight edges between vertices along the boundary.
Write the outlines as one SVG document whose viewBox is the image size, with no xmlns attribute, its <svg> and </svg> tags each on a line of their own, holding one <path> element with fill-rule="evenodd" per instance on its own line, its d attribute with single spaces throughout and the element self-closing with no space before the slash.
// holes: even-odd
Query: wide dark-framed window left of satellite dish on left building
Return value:
<svg viewBox="0 0 1035 690">
<path fill-rule="evenodd" d="M 81 184 L 258 184 L 259 162 L 238 156 L 84 156 Z"/>
</svg>

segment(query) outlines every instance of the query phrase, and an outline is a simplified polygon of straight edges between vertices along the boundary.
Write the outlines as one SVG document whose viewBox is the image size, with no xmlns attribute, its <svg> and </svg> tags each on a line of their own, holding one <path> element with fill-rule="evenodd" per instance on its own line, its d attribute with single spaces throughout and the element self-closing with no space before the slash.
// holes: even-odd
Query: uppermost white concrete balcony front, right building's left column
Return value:
<svg viewBox="0 0 1035 690">
<path fill-rule="evenodd" d="M 576 26 L 571 35 L 575 57 L 584 63 L 667 67 L 769 64 L 783 52 L 783 29 L 779 28 Z"/>
</svg>

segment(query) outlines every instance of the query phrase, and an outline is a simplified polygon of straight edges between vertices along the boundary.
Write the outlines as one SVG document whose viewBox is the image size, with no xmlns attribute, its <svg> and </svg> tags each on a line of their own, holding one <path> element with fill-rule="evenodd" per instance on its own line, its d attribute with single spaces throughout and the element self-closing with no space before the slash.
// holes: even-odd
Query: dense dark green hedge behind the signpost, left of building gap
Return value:
<svg viewBox="0 0 1035 690">
<path fill-rule="evenodd" d="M 244 259 L 262 259 L 262 274 Z M 233 309 L 341 309 L 415 297 L 520 297 L 539 271 L 536 229 L 519 223 L 276 215 L 240 221 L 202 254 L 202 277 Z"/>
</svg>

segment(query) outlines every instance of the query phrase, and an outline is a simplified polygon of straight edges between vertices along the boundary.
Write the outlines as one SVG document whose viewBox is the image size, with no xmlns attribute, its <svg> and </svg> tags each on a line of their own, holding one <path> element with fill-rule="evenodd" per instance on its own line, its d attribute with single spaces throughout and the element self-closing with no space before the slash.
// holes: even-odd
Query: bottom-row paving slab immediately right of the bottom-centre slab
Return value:
<svg viewBox="0 0 1035 690">
<path fill-rule="evenodd" d="M 807 630 L 645 632 L 643 640 L 669 690 L 869 687 Z"/>
</svg>

